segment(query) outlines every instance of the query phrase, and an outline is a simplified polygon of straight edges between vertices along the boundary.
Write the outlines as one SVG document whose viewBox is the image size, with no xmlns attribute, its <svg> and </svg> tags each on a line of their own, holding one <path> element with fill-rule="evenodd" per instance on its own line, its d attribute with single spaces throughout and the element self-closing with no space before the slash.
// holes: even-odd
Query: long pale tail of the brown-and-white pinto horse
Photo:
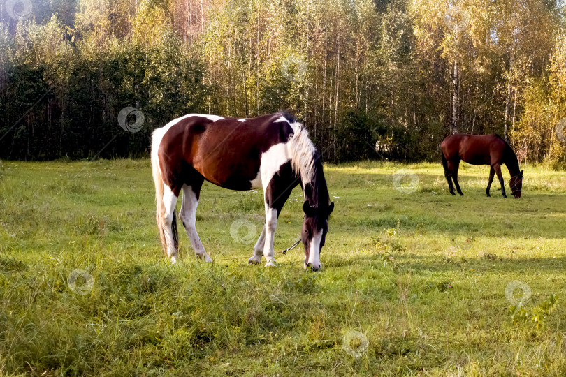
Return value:
<svg viewBox="0 0 566 377">
<path fill-rule="evenodd" d="M 167 256 L 167 242 L 165 238 L 165 205 L 163 202 L 164 193 L 164 182 L 161 178 L 161 170 L 159 168 L 159 156 L 157 151 L 159 150 L 159 144 L 161 143 L 161 138 L 163 135 L 157 129 L 154 131 L 152 136 L 152 175 L 153 182 L 155 184 L 155 202 L 157 205 L 157 210 L 155 214 L 155 219 L 157 221 L 157 228 L 159 229 L 159 238 L 161 238 L 161 246 L 163 247 L 164 256 Z M 175 211 L 176 212 L 176 211 Z M 175 250 L 179 248 L 179 236 L 177 235 L 177 214 L 173 213 L 173 223 L 171 224 L 171 231 L 173 232 L 173 243 Z"/>
</svg>

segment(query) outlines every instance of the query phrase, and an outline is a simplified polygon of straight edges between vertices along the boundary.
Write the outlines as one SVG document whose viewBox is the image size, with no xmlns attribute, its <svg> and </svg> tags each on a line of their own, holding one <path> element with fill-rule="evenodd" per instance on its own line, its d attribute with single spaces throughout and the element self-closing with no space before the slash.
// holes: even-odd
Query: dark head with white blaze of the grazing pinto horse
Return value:
<svg viewBox="0 0 566 377">
<path fill-rule="evenodd" d="M 326 232 L 328 232 L 328 216 L 334 209 L 334 202 L 326 207 L 314 207 L 305 202 L 303 211 L 305 221 L 303 221 L 303 231 L 300 238 L 305 244 L 305 269 L 310 267 L 318 271 L 320 264 L 320 251 L 324 246 Z"/>
</svg>

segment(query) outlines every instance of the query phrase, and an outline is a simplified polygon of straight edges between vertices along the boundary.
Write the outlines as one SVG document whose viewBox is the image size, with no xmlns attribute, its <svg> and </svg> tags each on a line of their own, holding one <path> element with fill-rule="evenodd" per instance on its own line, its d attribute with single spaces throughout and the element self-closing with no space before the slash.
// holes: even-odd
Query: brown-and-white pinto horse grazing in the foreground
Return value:
<svg viewBox="0 0 566 377">
<path fill-rule="evenodd" d="M 152 135 L 152 171 L 157 200 L 157 226 L 166 256 L 177 260 L 175 205 L 195 255 L 212 261 L 196 233 L 196 206 L 207 180 L 230 190 L 263 188 L 266 223 L 248 263 L 275 265 L 273 237 L 277 218 L 294 187 L 303 188 L 305 264 L 317 271 L 328 231 L 330 201 L 319 152 L 303 124 L 286 112 L 235 119 L 188 114 Z"/>
</svg>

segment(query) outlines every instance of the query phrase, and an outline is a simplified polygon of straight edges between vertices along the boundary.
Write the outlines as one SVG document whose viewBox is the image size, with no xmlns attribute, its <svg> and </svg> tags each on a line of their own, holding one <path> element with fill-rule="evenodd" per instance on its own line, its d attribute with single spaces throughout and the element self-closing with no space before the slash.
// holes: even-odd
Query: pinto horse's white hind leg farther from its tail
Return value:
<svg viewBox="0 0 566 377">
<path fill-rule="evenodd" d="M 196 232 L 196 207 L 198 205 L 198 197 L 201 193 L 203 179 L 191 179 L 191 186 L 183 185 L 183 198 L 179 217 L 183 223 L 184 229 L 191 240 L 194 254 L 197 258 L 205 258 L 207 262 L 212 262 L 212 258 L 206 253 L 201 239 Z"/>
</svg>

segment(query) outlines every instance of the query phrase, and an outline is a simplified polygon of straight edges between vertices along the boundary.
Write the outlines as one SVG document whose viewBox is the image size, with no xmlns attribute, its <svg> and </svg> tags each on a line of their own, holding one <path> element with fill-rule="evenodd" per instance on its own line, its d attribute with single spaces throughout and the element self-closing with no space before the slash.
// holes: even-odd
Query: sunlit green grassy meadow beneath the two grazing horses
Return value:
<svg viewBox="0 0 566 377">
<path fill-rule="evenodd" d="M 328 165 L 317 273 L 302 246 L 247 265 L 262 193 L 211 184 L 203 244 L 244 258 L 194 260 L 180 229 L 170 265 L 150 174 L 149 161 L 0 164 L 0 375 L 566 375 L 565 172 L 525 167 L 514 200 L 497 184 L 486 198 L 487 167 L 463 165 L 452 197 L 440 163 Z M 296 188 L 276 251 L 301 206 Z"/>
</svg>

